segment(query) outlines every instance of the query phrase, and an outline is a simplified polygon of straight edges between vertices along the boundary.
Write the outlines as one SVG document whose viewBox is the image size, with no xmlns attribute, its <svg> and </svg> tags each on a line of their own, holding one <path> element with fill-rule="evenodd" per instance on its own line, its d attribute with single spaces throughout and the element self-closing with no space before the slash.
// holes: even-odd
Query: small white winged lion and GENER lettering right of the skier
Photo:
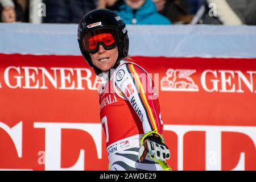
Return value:
<svg viewBox="0 0 256 182">
<path fill-rule="evenodd" d="M 162 91 L 199 92 L 192 76 L 195 69 L 168 69 L 160 81 Z M 204 70 L 200 75 L 201 87 L 206 92 L 256 93 L 256 71 Z"/>
</svg>

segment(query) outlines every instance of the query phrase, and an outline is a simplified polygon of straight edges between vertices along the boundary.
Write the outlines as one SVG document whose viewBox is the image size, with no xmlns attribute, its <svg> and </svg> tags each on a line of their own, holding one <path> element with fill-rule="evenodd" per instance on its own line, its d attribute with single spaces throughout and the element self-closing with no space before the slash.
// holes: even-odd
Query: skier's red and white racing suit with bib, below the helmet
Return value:
<svg viewBox="0 0 256 182">
<path fill-rule="evenodd" d="M 163 122 L 158 96 L 148 73 L 139 65 L 121 60 L 99 92 L 100 118 L 106 135 L 110 170 L 163 170 L 148 156 L 138 161 L 140 140 Z"/>
</svg>

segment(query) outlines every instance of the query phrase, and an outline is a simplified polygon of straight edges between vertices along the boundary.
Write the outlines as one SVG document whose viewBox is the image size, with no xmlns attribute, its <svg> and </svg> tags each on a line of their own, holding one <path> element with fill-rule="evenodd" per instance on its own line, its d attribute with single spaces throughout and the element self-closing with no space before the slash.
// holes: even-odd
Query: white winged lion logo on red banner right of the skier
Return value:
<svg viewBox="0 0 256 182">
<path fill-rule="evenodd" d="M 168 69 L 161 80 L 161 90 L 198 92 L 198 86 L 189 77 L 195 72 L 195 69 Z"/>
</svg>

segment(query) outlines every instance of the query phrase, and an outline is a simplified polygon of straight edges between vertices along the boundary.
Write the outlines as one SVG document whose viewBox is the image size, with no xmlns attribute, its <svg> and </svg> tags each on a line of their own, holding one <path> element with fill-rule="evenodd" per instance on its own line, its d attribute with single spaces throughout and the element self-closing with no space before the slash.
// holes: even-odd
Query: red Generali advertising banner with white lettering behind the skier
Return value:
<svg viewBox="0 0 256 182">
<path fill-rule="evenodd" d="M 172 169 L 256 170 L 256 59 L 131 59 L 157 87 Z M 108 170 L 102 83 L 82 56 L 0 54 L 0 169 Z"/>
</svg>

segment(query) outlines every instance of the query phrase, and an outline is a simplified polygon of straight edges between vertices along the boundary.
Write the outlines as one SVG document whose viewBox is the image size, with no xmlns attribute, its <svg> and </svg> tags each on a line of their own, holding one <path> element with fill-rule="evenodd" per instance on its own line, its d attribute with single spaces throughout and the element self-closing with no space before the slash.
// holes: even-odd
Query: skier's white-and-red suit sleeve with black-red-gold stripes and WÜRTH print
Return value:
<svg viewBox="0 0 256 182">
<path fill-rule="evenodd" d="M 148 73 L 138 65 L 126 63 L 116 70 L 114 83 L 141 119 L 144 134 L 155 130 L 162 135 L 158 96 Z"/>
</svg>

